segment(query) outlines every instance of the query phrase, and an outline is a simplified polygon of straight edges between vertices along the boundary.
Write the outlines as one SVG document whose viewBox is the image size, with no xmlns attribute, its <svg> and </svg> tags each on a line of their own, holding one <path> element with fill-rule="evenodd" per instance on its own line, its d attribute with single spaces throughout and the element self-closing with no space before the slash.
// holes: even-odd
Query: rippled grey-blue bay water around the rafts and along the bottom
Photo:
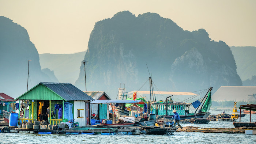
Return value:
<svg viewBox="0 0 256 144">
<path fill-rule="evenodd" d="M 219 114 L 221 111 L 211 111 Z M 228 113 L 229 114 L 229 113 Z M 253 122 L 256 115 L 252 115 Z M 239 121 L 239 119 L 238 119 Z M 242 122 L 249 122 L 249 114 L 242 117 Z M 234 128 L 233 122 L 210 121 L 209 124 L 181 124 L 201 128 Z M 171 136 L 159 135 L 59 135 L 59 134 L 20 134 L 0 133 L 0 143 L 250 143 L 256 144 L 256 135 L 244 133 L 183 133 L 176 132 Z"/>
</svg>

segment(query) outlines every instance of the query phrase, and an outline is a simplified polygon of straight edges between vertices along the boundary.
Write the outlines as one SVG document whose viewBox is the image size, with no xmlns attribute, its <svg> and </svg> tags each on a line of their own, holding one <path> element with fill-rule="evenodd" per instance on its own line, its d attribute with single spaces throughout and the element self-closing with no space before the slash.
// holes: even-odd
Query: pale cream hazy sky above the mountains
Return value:
<svg viewBox="0 0 256 144">
<path fill-rule="evenodd" d="M 119 11 L 158 13 L 184 30 L 205 29 L 229 46 L 256 46 L 256 0 L 0 0 L 0 15 L 25 27 L 38 53 L 87 49 L 95 22 Z"/>
</svg>

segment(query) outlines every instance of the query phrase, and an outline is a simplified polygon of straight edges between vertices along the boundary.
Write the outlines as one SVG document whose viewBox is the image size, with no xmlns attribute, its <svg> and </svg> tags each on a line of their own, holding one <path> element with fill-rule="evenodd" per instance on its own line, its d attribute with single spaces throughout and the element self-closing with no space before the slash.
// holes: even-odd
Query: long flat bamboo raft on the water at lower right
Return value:
<svg viewBox="0 0 256 144">
<path fill-rule="evenodd" d="M 245 130 L 256 130 L 256 128 L 198 128 L 193 126 L 185 126 L 183 129 L 177 129 L 176 132 L 245 133 Z"/>
</svg>

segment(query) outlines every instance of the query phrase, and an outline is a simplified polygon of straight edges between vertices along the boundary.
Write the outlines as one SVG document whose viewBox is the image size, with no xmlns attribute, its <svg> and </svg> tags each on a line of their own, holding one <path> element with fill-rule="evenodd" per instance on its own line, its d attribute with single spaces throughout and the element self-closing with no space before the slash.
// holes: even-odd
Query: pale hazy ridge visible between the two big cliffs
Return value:
<svg viewBox="0 0 256 144">
<path fill-rule="evenodd" d="M 72 83 L 78 79 L 79 67 L 86 51 L 72 54 L 39 54 L 42 69 L 49 68 L 61 83 Z"/>
</svg>

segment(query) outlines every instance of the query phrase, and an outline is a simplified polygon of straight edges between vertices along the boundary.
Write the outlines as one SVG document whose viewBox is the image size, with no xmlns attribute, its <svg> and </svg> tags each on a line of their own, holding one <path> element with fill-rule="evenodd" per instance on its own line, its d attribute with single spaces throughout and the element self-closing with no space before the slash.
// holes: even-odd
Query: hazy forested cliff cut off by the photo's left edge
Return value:
<svg viewBox="0 0 256 144">
<path fill-rule="evenodd" d="M 0 92 L 16 98 L 39 82 L 54 82 L 41 71 L 39 56 L 27 30 L 0 16 Z"/>
</svg>

